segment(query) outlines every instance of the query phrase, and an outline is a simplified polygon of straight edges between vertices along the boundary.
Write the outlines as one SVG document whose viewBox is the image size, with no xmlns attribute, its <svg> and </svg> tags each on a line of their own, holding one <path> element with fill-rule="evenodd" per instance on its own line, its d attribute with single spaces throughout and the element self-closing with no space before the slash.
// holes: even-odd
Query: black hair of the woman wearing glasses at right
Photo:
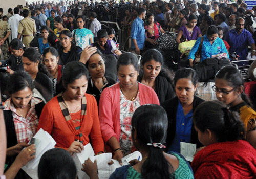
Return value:
<svg viewBox="0 0 256 179">
<path fill-rule="evenodd" d="M 215 75 L 215 79 L 223 79 L 227 81 L 227 84 L 233 88 L 238 88 L 239 86 L 244 87 L 244 80 L 237 68 L 234 66 L 224 66 L 217 72 Z M 246 96 L 244 92 L 241 93 L 241 98 L 251 106 L 252 108 L 254 107 L 250 101 L 250 99 Z"/>
</svg>

